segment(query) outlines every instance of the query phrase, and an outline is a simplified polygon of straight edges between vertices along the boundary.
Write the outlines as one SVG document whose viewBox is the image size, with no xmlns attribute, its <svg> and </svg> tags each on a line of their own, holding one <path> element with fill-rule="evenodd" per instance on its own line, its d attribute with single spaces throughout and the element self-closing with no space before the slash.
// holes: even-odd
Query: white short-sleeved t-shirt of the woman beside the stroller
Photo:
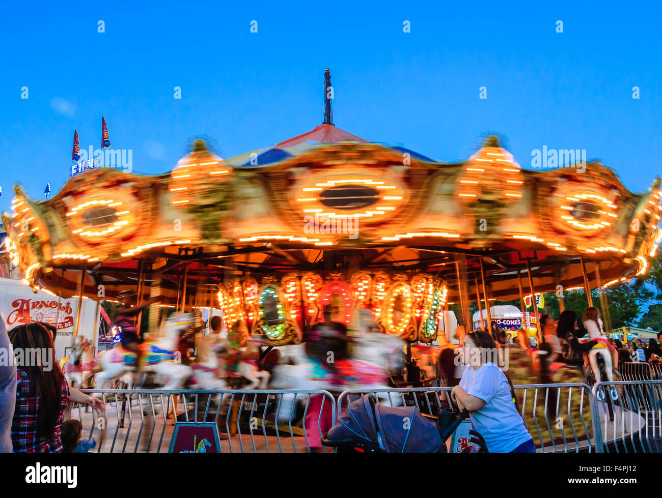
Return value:
<svg viewBox="0 0 662 498">
<path fill-rule="evenodd" d="M 469 415 L 471 427 L 483 436 L 489 452 L 508 453 L 532 438 L 512 402 L 506 376 L 494 363 L 475 370 L 467 366 L 459 386 L 485 401 L 481 409 Z"/>
</svg>

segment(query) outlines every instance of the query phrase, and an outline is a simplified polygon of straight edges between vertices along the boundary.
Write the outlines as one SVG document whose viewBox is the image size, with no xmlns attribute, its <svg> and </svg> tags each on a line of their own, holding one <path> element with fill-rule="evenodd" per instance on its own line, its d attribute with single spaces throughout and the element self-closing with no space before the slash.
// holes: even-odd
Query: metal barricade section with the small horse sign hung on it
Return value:
<svg viewBox="0 0 662 498">
<path fill-rule="evenodd" d="M 105 404 L 103 413 L 71 404 L 95 452 L 310 452 L 336 423 L 324 390 L 83 392 Z"/>
</svg>

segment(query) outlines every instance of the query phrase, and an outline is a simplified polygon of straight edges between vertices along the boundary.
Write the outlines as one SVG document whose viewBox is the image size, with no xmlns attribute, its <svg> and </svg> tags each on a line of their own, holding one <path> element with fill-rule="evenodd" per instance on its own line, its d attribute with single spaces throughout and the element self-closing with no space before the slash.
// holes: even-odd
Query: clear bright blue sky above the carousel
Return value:
<svg viewBox="0 0 662 498">
<path fill-rule="evenodd" d="M 73 130 L 98 148 L 102 115 L 139 173 L 171 170 L 195 136 L 231 157 L 307 132 L 325 67 L 336 126 L 367 140 L 457 161 L 497 132 L 522 167 L 543 145 L 586 149 L 636 192 L 662 171 L 657 4 L 137 4 L 3 6 L 0 210 L 16 182 L 60 190 Z"/>
</svg>

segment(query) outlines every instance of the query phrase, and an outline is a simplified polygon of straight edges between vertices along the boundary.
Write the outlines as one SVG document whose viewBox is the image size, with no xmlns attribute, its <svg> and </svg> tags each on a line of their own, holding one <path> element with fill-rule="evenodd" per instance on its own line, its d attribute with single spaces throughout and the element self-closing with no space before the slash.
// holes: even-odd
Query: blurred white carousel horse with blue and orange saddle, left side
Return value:
<svg viewBox="0 0 662 498">
<path fill-rule="evenodd" d="M 194 313 L 171 315 L 166 319 L 162 337 L 156 341 L 140 344 L 142 355 L 140 364 L 136 364 L 136 354 L 124 349 L 120 343 L 101 355 L 100 371 L 96 374 L 99 388 L 129 372 L 152 372 L 167 378 L 164 389 L 175 390 L 184 387 L 191 376 L 190 366 L 181 363 L 177 351 L 179 335 L 195 325 Z"/>
</svg>

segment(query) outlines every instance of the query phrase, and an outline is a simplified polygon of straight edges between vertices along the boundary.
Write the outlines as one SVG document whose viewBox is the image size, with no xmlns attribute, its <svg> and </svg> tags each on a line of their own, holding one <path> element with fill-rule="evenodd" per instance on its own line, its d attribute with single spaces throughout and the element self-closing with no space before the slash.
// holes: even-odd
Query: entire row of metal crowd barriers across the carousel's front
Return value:
<svg viewBox="0 0 662 498">
<path fill-rule="evenodd" d="M 83 423 L 83 438 L 97 440 L 96 452 L 310 452 L 363 394 L 427 415 L 451 406 L 449 387 L 356 389 L 335 396 L 323 390 L 85 392 L 105 401 L 105 414 L 74 403 L 70 417 Z M 538 452 L 662 450 L 662 380 L 598 382 L 592 389 L 526 384 L 514 386 L 514 394 Z M 459 450 L 451 439 L 449 450 Z"/>
</svg>

